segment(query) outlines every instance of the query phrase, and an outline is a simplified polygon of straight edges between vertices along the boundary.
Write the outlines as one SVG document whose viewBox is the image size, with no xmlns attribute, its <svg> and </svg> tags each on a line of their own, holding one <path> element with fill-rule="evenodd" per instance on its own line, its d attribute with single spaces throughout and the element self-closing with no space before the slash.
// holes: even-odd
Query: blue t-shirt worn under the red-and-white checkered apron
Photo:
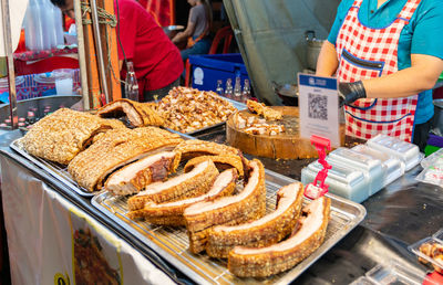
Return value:
<svg viewBox="0 0 443 285">
<path fill-rule="evenodd" d="M 377 9 L 377 0 L 363 0 L 359 19 L 364 25 L 380 29 L 390 25 L 408 0 L 388 0 Z M 328 41 L 336 44 L 337 35 L 353 0 L 342 0 Z M 425 54 L 443 59 L 443 1 L 422 0 L 404 27 L 399 40 L 399 70 L 411 66 L 411 54 Z M 432 91 L 419 94 L 414 124 L 423 124 L 434 115 Z"/>
</svg>

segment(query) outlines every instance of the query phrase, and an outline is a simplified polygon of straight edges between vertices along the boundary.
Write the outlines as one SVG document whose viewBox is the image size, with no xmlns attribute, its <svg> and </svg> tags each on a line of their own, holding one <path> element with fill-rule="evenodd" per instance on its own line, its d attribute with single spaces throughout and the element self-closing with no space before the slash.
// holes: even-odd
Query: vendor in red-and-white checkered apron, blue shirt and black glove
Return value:
<svg viewBox="0 0 443 285">
<path fill-rule="evenodd" d="M 443 1 L 342 0 L 317 75 L 338 77 L 347 135 L 383 133 L 423 150 L 442 59 Z"/>
</svg>

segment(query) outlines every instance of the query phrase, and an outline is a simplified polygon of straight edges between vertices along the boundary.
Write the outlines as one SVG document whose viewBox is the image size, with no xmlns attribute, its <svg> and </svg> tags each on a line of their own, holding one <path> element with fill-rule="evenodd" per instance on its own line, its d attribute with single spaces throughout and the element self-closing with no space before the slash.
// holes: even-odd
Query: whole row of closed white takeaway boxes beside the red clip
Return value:
<svg viewBox="0 0 443 285">
<path fill-rule="evenodd" d="M 416 166 L 423 155 L 415 145 L 378 135 L 367 145 L 338 148 L 327 161 L 332 166 L 326 183 L 333 194 L 361 203 Z M 301 182 L 313 181 L 321 166 L 315 161 L 301 170 Z"/>
</svg>

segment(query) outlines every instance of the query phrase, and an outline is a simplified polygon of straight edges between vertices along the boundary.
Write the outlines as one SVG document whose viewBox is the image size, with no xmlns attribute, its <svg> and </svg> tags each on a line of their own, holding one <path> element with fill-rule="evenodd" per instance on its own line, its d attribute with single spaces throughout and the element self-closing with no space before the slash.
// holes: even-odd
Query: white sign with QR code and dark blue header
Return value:
<svg viewBox="0 0 443 285">
<path fill-rule="evenodd" d="M 300 136 L 329 138 L 340 146 L 337 78 L 298 74 Z"/>
</svg>

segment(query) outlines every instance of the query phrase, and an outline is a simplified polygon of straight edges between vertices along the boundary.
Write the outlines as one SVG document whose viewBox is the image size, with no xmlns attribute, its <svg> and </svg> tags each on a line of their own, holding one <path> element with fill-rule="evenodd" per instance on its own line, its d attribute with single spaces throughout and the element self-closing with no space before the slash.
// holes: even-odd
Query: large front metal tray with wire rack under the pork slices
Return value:
<svg viewBox="0 0 443 285">
<path fill-rule="evenodd" d="M 277 190 L 281 186 L 293 181 L 288 177 L 266 170 L 268 212 L 275 209 Z M 184 226 L 159 226 L 128 219 L 126 217 L 126 198 L 113 197 L 107 191 L 101 192 L 92 199 L 92 205 L 122 225 L 198 284 L 288 284 L 364 219 L 364 207 L 332 194 L 328 197 L 331 199 L 331 220 L 323 244 L 293 268 L 268 278 L 239 278 L 227 270 L 226 260 L 210 258 L 205 253 L 192 254 L 187 250 L 188 236 Z"/>
</svg>

